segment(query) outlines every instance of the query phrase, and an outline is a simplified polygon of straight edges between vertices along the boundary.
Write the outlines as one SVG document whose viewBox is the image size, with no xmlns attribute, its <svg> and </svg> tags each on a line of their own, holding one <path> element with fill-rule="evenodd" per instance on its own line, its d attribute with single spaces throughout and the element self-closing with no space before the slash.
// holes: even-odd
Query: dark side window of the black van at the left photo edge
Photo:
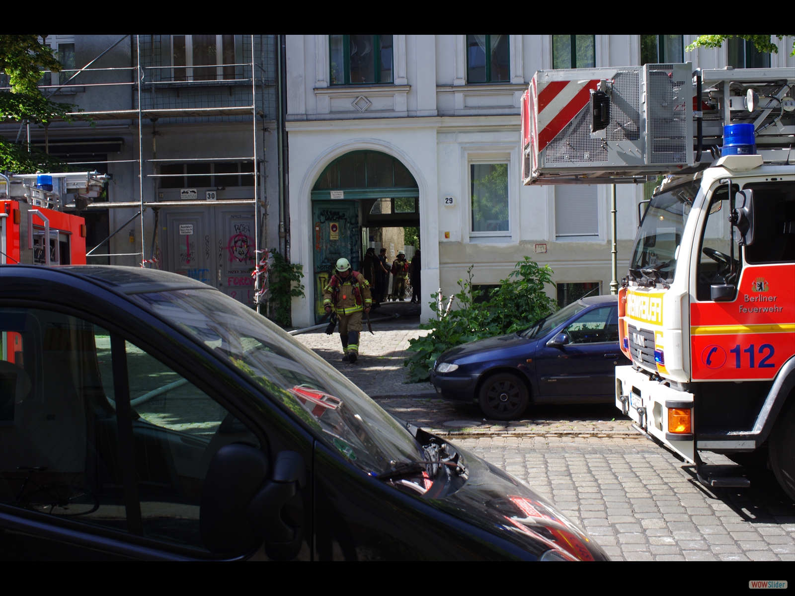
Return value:
<svg viewBox="0 0 795 596">
<path fill-rule="evenodd" d="M 0 503 L 126 532 L 107 331 L 37 308 L 0 330 Z"/>
</svg>

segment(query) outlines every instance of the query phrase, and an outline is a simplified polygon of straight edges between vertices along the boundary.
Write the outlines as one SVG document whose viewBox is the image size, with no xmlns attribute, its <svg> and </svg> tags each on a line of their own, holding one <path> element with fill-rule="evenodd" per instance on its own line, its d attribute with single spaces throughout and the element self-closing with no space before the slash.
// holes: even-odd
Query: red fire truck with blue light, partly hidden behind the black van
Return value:
<svg viewBox="0 0 795 596">
<path fill-rule="evenodd" d="M 107 174 L 0 174 L 0 264 L 85 265 L 86 223 L 65 208 L 99 197 Z"/>
</svg>

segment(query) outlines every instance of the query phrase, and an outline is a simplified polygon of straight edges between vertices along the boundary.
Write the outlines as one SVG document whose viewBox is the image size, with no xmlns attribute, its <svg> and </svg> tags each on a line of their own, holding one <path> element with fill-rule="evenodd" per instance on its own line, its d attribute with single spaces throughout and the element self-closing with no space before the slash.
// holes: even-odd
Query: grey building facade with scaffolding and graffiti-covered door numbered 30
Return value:
<svg viewBox="0 0 795 596">
<path fill-rule="evenodd" d="M 112 176 L 93 203 L 64 199 L 87 221 L 89 264 L 165 269 L 254 304 L 254 251 L 280 240 L 278 41 L 45 38 L 64 71 L 45 73 L 41 91 L 76 104 L 74 122 L 21 134 L 78 171 Z"/>
</svg>

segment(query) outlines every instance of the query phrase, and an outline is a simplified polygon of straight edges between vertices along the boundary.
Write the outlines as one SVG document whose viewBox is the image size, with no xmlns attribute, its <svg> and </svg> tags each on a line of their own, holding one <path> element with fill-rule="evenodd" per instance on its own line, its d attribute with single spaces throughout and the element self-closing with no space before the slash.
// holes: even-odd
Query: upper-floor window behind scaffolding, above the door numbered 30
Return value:
<svg viewBox="0 0 795 596">
<path fill-rule="evenodd" d="M 235 79 L 235 64 L 242 64 L 240 35 L 172 35 L 172 80 L 215 81 Z"/>
</svg>

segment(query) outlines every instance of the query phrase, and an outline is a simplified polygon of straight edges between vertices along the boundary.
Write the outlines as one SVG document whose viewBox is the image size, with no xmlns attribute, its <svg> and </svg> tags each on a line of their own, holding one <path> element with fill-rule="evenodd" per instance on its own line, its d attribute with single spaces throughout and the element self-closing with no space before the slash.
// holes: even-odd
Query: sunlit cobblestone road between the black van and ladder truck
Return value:
<svg viewBox="0 0 795 596">
<path fill-rule="evenodd" d="M 749 489 L 707 489 L 693 466 L 648 439 L 455 442 L 548 497 L 614 560 L 795 559 L 795 504 L 767 470 L 745 470 Z M 714 454 L 704 462 L 731 464 Z"/>
</svg>

